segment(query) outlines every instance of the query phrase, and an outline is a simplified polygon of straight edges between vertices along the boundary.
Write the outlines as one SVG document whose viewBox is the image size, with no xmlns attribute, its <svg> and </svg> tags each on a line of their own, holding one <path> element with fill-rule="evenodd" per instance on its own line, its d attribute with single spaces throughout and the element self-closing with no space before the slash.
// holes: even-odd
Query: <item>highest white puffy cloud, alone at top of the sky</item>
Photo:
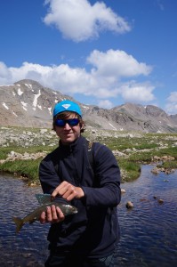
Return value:
<svg viewBox="0 0 177 267">
<path fill-rule="evenodd" d="M 91 5 L 87 0 L 46 0 L 46 25 L 54 25 L 61 34 L 75 42 L 96 38 L 101 31 L 123 34 L 131 30 L 129 23 L 103 2 Z M 81 23 L 82 21 L 82 23 Z"/>
</svg>

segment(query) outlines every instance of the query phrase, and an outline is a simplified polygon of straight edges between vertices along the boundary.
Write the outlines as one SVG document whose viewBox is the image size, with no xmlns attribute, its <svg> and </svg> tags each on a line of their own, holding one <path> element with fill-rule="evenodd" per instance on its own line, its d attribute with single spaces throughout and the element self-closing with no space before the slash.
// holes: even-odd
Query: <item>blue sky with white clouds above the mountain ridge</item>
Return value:
<svg viewBox="0 0 177 267">
<path fill-rule="evenodd" d="M 105 109 L 177 114 L 176 0 L 0 2 L 0 85 L 30 78 Z"/>
</svg>

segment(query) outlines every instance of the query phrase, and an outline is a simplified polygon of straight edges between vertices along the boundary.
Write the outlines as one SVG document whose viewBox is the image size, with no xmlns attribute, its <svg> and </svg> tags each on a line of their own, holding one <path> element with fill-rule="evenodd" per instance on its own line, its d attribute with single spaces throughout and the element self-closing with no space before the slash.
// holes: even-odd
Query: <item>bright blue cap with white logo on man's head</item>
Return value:
<svg viewBox="0 0 177 267">
<path fill-rule="evenodd" d="M 76 112 L 80 117 L 82 117 L 82 112 L 79 105 L 69 100 L 60 101 L 54 106 L 53 117 L 64 111 Z"/>
</svg>

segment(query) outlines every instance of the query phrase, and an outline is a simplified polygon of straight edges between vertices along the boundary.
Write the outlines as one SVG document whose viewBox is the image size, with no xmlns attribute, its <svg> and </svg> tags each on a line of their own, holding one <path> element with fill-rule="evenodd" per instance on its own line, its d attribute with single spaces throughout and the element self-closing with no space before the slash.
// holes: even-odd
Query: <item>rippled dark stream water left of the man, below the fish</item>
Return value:
<svg viewBox="0 0 177 267">
<path fill-rule="evenodd" d="M 16 226 L 12 222 L 12 216 L 22 218 L 38 206 L 35 194 L 42 193 L 42 190 L 28 187 L 10 176 L 0 176 L 0 188 L 0 266 L 44 266 L 49 225 L 27 223 L 16 235 Z"/>
</svg>

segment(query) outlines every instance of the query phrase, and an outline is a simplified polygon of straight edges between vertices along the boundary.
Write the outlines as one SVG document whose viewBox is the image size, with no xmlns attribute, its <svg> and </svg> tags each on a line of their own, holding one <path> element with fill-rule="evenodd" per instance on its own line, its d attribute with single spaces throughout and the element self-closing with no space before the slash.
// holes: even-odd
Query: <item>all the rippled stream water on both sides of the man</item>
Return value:
<svg viewBox="0 0 177 267">
<path fill-rule="evenodd" d="M 177 170 L 156 175 L 150 172 L 152 167 L 141 166 L 138 180 L 121 185 L 126 192 L 117 207 L 121 230 L 117 267 L 177 266 Z M 12 222 L 12 216 L 23 217 L 38 206 L 35 194 L 41 189 L 4 175 L 0 188 L 0 266 L 44 266 L 49 225 L 27 223 L 16 235 Z M 125 207 L 128 200 L 133 202 L 131 210 Z"/>
</svg>

